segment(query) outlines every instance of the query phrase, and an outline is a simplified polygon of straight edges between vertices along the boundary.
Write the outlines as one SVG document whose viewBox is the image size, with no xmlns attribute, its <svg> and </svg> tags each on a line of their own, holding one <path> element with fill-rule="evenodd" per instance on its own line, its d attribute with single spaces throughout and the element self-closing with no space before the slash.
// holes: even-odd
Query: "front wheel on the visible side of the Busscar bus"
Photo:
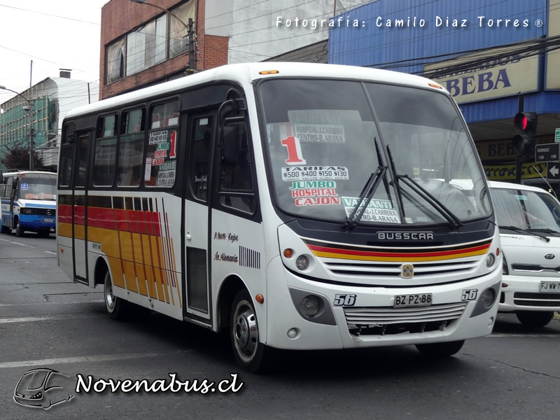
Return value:
<svg viewBox="0 0 560 420">
<path fill-rule="evenodd" d="M 259 341 L 258 321 L 251 296 L 239 290 L 232 303 L 230 337 L 237 364 L 247 372 L 269 370 L 272 349 Z"/>
</svg>

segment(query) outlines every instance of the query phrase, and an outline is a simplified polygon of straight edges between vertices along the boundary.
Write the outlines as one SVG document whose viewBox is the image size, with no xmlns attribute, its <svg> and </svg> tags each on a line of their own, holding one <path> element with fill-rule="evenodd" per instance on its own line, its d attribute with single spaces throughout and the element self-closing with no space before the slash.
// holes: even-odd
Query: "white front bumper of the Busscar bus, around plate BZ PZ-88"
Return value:
<svg viewBox="0 0 560 420">
<path fill-rule="evenodd" d="M 283 279 L 281 278 L 283 273 Z M 278 349 L 351 349 L 374 346 L 451 342 L 489 335 L 501 283 L 501 267 L 476 279 L 418 288 L 356 287 L 302 279 L 288 272 L 280 258 L 268 267 L 267 345 Z M 492 288 L 494 300 L 483 308 L 480 296 Z M 477 290 L 475 300 L 461 300 Z M 393 308 L 396 295 L 431 293 L 426 307 Z M 302 298 L 316 295 L 322 309 L 313 318 L 297 309 Z M 470 297 L 474 295 L 471 292 Z M 335 306 L 346 299 L 351 306 Z M 482 308 L 482 310 L 481 310 Z"/>
</svg>

